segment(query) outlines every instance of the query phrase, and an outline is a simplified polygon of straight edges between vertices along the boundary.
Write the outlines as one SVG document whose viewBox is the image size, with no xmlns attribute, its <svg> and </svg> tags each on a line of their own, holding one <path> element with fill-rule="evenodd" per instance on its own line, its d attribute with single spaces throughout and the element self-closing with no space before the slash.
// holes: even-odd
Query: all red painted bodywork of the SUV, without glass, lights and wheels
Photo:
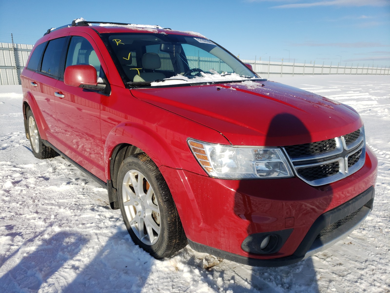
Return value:
<svg viewBox="0 0 390 293">
<path fill-rule="evenodd" d="M 192 241 L 257 259 L 288 256 L 321 214 L 374 185 L 377 160 L 368 147 L 360 170 L 318 187 L 297 177 L 223 180 L 207 176 L 191 153 L 188 138 L 278 147 L 349 134 L 362 126 L 362 120 L 351 107 L 270 81 L 128 89 L 98 35 L 104 32 L 147 31 L 69 27 L 47 34 L 37 45 L 68 35 L 86 38 L 110 84 L 109 95 L 68 86 L 25 68 L 23 103 L 30 106 L 42 139 L 105 182 L 111 179 L 110 157 L 118 145 L 134 145 L 148 154 L 167 181 Z M 192 36 L 163 29 L 149 32 Z M 54 97 L 55 91 L 64 98 Z M 276 254 L 254 255 L 241 249 L 249 234 L 286 227 L 293 232 Z"/>
</svg>

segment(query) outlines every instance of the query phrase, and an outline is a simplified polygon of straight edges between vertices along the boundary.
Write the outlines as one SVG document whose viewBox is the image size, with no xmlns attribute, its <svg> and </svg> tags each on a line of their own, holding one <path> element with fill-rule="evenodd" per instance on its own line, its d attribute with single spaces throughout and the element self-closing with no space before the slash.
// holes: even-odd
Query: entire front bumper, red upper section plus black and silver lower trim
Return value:
<svg viewBox="0 0 390 293">
<path fill-rule="evenodd" d="M 360 170 L 323 186 L 299 178 L 223 180 L 165 166 L 160 170 L 191 247 L 239 263 L 283 266 L 326 249 L 358 227 L 371 211 L 377 164 L 367 148 Z M 355 204 L 356 198 L 363 200 Z M 316 239 L 323 225 L 360 207 L 348 223 Z M 292 232 L 275 253 L 254 254 L 241 247 L 249 235 L 287 229 Z"/>
</svg>

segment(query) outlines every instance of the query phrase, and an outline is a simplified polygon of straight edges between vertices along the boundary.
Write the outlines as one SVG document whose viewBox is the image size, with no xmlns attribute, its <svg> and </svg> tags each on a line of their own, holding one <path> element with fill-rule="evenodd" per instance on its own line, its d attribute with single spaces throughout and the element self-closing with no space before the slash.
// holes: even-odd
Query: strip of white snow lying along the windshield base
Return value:
<svg viewBox="0 0 390 293">
<path fill-rule="evenodd" d="M 186 83 L 194 83 L 194 82 L 232 81 L 232 80 L 248 79 L 248 77 L 238 75 L 237 73 L 219 74 L 219 73 L 200 72 L 200 74 L 202 75 L 201 77 L 197 76 L 191 78 L 178 74 L 173 77 L 164 79 L 162 81 L 152 82 L 151 86 L 168 86 L 171 84 L 186 84 Z M 253 77 L 253 78 L 257 79 L 257 77 Z"/>
</svg>

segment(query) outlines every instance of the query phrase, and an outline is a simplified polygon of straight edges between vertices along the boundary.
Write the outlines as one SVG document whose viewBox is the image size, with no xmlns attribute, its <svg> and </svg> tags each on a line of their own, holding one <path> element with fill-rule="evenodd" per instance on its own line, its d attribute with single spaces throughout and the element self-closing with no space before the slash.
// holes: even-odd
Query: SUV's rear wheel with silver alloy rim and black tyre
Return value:
<svg viewBox="0 0 390 293">
<path fill-rule="evenodd" d="M 31 150 L 38 159 L 49 159 L 55 157 L 57 153 L 51 147 L 46 147 L 43 144 L 41 136 L 39 135 L 37 123 L 31 110 L 27 112 L 27 130 L 28 139 L 30 140 Z"/>
</svg>

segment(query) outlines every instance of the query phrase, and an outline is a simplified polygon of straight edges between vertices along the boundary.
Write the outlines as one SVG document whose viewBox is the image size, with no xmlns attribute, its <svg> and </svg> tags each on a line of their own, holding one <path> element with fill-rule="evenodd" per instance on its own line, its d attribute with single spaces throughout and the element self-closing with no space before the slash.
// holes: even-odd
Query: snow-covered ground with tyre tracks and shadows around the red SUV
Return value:
<svg viewBox="0 0 390 293">
<path fill-rule="evenodd" d="M 135 246 L 107 192 L 58 156 L 36 159 L 20 86 L 0 86 L 0 292 L 390 292 L 390 77 L 271 79 L 351 105 L 378 155 L 374 210 L 332 248 L 253 268 L 186 247 L 156 260 Z"/>
</svg>

